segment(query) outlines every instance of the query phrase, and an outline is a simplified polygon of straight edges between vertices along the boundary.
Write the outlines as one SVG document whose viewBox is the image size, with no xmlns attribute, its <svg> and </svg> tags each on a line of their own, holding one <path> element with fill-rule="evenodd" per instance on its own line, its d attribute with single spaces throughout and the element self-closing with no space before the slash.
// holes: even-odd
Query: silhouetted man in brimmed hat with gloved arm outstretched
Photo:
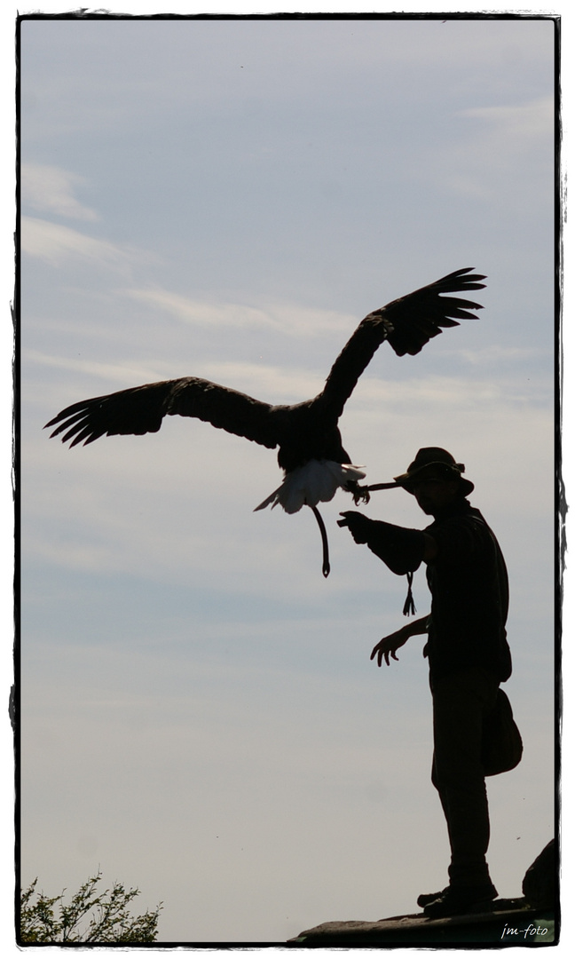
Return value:
<svg viewBox="0 0 575 959">
<path fill-rule="evenodd" d="M 485 716 L 494 709 L 499 683 L 511 675 L 505 631 L 509 591 L 495 536 L 467 500 L 473 484 L 463 478 L 464 470 L 446 450 L 427 447 L 395 478 L 433 517 L 424 530 L 380 523 L 356 511 L 342 513 L 340 521 L 393 573 L 408 574 L 409 599 L 411 576 L 426 563 L 430 614 L 384 637 L 371 658 L 377 657 L 378 666 L 384 658 L 389 666 L 389 657 L 397 660 L 397 650 L 409 637 L 427 634 L 431 780 L 451 849 L 449 885 L 418 899 L 432 917 L 474 910 L 497 896 L 486 860 L 490 825 L 481 747 Z"/>
</svg>

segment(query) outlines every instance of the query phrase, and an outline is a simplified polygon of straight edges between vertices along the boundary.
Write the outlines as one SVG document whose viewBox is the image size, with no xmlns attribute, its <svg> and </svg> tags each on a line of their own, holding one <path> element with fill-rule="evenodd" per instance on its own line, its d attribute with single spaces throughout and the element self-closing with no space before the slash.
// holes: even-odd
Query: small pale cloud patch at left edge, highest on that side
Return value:
<svg viewBox="0 0 575 959">
<path fill-rule="evenodd" d="M 41 213 L 52 213 L 70 220 L 95 221 L 95 210 L 84 206 L 74 193 L 86 180 L 59 167 L 40 163 L 22 164 L 22 199 Z"/>
</svg>

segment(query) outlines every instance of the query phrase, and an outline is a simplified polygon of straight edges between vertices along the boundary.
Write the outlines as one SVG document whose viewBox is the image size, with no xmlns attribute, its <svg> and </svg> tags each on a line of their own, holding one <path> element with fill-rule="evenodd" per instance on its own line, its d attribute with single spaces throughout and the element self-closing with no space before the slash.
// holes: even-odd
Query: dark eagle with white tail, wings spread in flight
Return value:
<svg viewBox="0 0 575 959">
<path fill-rule="evenodd" d="M 415 356 L 442 327 L 476 319 L 470 311 L 480 310 L 479 303 L 442 294 L 481 290 L 484 279 L 472 268 L 458 269 L 370 313 L 335 360 L 321 393 L 304 403 L 271 406 L 227 386 L 186 376 L 82 400 L 62 409 L 46 426 L 58 424 L 51 436 L 64 433 L 62 442 L 71 440 L 72 447 L 104 435 L 156 433 L 164 416 L 193 416 L 270 450 L 279 447 L 284 481 L 256 509 L 281 503 L 295 513 L 304 504 L 311 506 L 322 532 L 323 572 L 328 575 L 327 540 L 317 503 L 332 500 L 338 487 L 353 493 L 356 501 L 366 495 L 366 487 L 357 484 L 365 474 L 351 463 L 337 428 L 357 380 L 385 339 L 398 356 Z"/>
</svg>

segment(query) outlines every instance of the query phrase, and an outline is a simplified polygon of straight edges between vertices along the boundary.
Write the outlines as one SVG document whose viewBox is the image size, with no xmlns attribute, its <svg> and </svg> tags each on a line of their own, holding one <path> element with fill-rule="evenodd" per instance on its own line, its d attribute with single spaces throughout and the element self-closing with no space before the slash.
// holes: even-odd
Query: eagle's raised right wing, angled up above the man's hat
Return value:
<svg viewBox="0 0 575 959">
<path fill-rule="evenodd" d="M 485 284 L 480 281 L 485 276 L 471 270 L 457 269 L 362 319 L 332 367 L 321 393 L 323 401 L 340 415 L 357 380 L 385 339 L 398 356 L 415 356 L 429 339 L 442 332 L 442 327 L 459 326 L 458 319 L 476 319 L 471 311 L 481 310 L 479 303 L 441 295 L 483 289 Z"/>
</svg>

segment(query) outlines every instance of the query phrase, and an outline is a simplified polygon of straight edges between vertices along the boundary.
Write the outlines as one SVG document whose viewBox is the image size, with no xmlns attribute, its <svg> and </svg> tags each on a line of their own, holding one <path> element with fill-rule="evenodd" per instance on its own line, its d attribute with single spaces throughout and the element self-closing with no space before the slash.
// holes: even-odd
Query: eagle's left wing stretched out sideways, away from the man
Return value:
<svg viewBox="0 0 575 959">
<path fill-rule="evenodd" d="M 193 416 L 273 449 L 278 441 L 271 410 L 235 389 L 183 377 L 82 400 L 62 409 L 46 426 L 58 424 L 50 435 L 64 433 L 62 442 L 71 440 L 72 447 L 104 435 L 157 433 L 164 416 Z"/>
</svg>

